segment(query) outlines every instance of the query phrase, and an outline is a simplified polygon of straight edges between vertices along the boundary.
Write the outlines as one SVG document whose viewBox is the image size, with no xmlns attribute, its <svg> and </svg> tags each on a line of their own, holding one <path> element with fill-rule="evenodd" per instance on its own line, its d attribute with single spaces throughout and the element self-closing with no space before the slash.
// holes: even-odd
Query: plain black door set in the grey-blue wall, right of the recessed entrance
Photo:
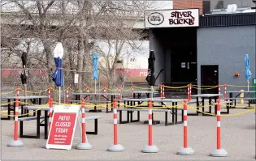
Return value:
<svg viewBox="0 0 256 161">
<path fill-rule="evenodd" d="M 219 84 L 219 66 L 209 65 L 201 66 L 201 85 L 202 86 L 217 86 Z M 209 88 L 209 87 L 203 87 Z M 218 94 L 218 87 L 201 91 L 202 94 Z"/>
</svg>

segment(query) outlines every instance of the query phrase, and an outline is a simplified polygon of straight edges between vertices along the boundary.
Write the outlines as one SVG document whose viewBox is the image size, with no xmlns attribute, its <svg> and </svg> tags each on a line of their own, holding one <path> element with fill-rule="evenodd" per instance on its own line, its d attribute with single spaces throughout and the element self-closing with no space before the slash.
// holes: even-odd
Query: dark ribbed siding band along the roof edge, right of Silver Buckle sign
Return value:
<svg viewBox="0 0 256 161">
<path fill-rule="evenodd" d="M 256 13 L 200 16 L 200 27 L 256 25 Z"/>
</svg>

